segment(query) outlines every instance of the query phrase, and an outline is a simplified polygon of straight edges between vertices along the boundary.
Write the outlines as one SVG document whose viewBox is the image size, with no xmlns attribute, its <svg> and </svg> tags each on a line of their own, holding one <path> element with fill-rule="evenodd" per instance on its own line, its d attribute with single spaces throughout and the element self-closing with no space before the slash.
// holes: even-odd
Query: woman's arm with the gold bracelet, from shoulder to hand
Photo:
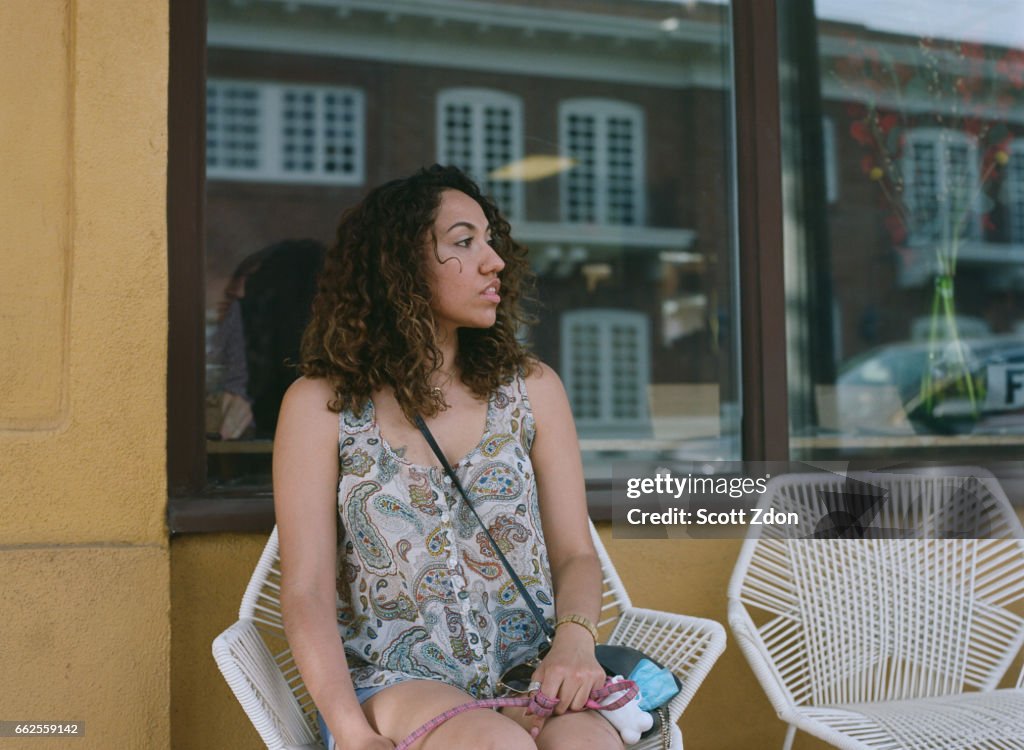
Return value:
<svg viewBox="0 0 1024 750">
<path fill-rule="evenodd" d="M 590 539 L 583 461 L 568 399 L 558 375 L 544 365 L 526 378 L 526 387 L 537 426 L 530 459 L 554 579 L 556 615 L 582 615 L 596 623 L 601 609 L 601 565 Z M 551 652 L 536 675 L 545 695 L 558 696 L 556 713 L 583 708 L 604 677 L 594 657 L 593 636 L 572 622 L 558 627 Z"/>
</svg>

